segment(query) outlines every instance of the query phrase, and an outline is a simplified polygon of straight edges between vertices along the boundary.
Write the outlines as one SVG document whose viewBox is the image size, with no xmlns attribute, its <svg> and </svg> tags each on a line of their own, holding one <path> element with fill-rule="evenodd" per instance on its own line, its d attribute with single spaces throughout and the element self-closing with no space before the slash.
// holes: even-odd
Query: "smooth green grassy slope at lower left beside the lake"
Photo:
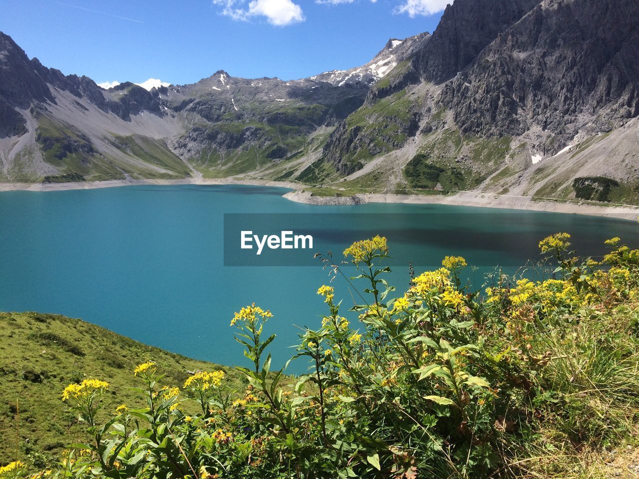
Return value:
<svg viewBox="0 0 639 479">
<path fill-rule="evenodd" d="M 165 382 L 181 386 L 189 371 L 231 369 L 168 353 L 120 336 L 95 324 L 53 314 L 0 313 L 0 464 L 22 460 L 43 467 L 60 448 L 86 439 L 77 414 L 60 395 L 69 383 L 100 377 L 111 384 L 100 418 L 142 395 L 129 386 L 133 369 L 153 360 Z M 18 439 L 19 438 L 19 439 Z"/>
</svg>

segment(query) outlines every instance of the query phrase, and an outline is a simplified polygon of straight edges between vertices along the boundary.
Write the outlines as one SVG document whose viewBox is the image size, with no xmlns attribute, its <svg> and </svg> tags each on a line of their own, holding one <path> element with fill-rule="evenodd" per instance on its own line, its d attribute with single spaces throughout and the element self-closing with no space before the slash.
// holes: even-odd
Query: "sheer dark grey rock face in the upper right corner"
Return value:
<svg viewBox="0 0 639 479">
<path fill-rule="evenodd" d="M 638 19 L 636 0 L 545 1 L 451 80 L 442 103 L 470 134 L 560 135 L 581 114 L 610 130 L 639 114 Z"/>
</svg>

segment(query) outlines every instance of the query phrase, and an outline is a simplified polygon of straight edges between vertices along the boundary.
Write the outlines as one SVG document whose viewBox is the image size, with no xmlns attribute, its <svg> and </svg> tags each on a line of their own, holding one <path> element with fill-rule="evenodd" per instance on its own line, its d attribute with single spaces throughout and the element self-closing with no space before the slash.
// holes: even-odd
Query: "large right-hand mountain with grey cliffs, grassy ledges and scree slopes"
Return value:
<svg viewBox="0 0 639 479">
<path fill-rule="evenodd" d="M 573 198 L 604 176 L 609 200 L 637 202 L 637 58 L 635 0 L 456 0 L 323 158 L 345 188 Z"/>
</svg>

